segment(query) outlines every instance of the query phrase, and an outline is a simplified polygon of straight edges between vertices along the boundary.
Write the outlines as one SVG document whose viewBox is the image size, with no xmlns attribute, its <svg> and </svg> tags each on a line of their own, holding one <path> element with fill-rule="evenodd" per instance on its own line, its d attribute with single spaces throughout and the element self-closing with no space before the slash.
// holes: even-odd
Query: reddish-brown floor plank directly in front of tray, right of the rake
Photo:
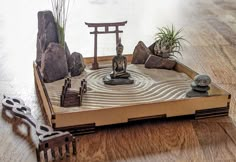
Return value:
<svg viewBox="0 0 236 162">
<path fill-rule="evenodd" d="M 141 130 L 141 131 L 137 131 Z M 187 135 L 188 134 L 188 135 Z M 81 161 L 203 161 L 191 122 L 150 122 L 79 137 Z M 91 156 L 87 156 L 87 155 Z"/>
</svg>

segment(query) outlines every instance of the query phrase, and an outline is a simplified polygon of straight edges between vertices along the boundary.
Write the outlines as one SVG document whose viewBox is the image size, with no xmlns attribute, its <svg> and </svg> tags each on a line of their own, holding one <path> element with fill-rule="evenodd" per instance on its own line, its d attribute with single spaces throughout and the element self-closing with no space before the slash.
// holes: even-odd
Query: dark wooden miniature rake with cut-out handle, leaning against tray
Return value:
<svg viewBox="0 0 236 162">
<path fill-rule="evenodd" d="M 73 155 L 76 155 L 76 140 L 69 132 L 54 131 L 51 127 L 39 124 L 32 116 L 31 109 L 25 106 L 24 101 L 18 98 L 4 96 L 2 100 L 4 109 L 9 110 L 14 116 L 27 121 L 27 124 L 35 128 L 39 138 L 39 144 L 36 148 L 37 161 L 40 161 L 40 153 L 43 152 L 45 161 L 48 161 L 48 151 L 55 160 L 55 150 L 58 148 L 60 159 L 63 158 L 63 147 L 66 150 L 66 156 L 70 155 L 70 145 L 72 144 Z"/>
</svg>

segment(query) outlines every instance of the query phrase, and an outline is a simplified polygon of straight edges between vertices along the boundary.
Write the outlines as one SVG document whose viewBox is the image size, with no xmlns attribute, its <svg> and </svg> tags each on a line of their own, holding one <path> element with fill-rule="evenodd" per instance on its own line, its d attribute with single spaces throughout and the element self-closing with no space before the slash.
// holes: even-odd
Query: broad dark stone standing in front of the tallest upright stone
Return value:
<svg viewBox="0 0 236 162">
<path fill-rule="evenodd" d="M 64 48 L 50 43 L 42 55 L 41 73 L 45 82 L 63 79 L 68 75 L 68 65 Z"/>
</svg>

